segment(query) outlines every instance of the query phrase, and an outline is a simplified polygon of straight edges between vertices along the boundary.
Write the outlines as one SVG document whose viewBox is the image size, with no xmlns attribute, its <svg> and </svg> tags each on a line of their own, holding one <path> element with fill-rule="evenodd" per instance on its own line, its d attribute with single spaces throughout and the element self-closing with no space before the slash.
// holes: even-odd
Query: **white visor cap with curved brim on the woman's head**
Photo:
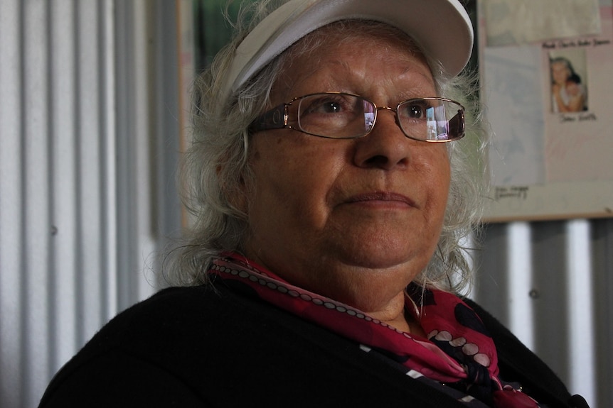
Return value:
<svg viewBox="0 0 613 408">
<path fill-rule="evenodd" d="M 225 99 L 305 35 L 341 20 L 387 23 L 410 35 L 422 52 L 457 75 L 472 52 L 470 18 L 457 0 L 289 0 L 264 18 L 237 50 L 225 82 Z"/>
</svg>

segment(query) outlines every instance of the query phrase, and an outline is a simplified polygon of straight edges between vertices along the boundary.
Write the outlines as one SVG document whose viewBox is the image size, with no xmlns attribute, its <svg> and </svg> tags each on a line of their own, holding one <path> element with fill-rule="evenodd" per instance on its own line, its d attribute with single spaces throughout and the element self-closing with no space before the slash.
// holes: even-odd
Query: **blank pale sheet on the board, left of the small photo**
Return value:
<svg viewBox="0 0 613 408">
<path fill-rule="evenodd" d="M 538 46 L 484 50 L 486 116 L 494 131 L 494 184 L 545 182 L 545 123 Z"/>
</svg>

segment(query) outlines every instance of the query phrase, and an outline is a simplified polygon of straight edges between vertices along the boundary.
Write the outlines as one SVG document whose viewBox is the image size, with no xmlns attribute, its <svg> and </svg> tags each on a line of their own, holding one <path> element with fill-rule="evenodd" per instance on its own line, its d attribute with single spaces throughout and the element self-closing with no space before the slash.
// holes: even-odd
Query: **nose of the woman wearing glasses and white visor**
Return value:
<svg viewBox="0 0 613 408">
<path fill-rule="evenodd" d="M 358 167 L 378 167 L 383 170 L 404 168 L 410 163 L 410 140 L 395 121 L 395 111 L 379 108 L 375 126 L 367 136 L 356 140 L 354 163 Z"/>
</svg>

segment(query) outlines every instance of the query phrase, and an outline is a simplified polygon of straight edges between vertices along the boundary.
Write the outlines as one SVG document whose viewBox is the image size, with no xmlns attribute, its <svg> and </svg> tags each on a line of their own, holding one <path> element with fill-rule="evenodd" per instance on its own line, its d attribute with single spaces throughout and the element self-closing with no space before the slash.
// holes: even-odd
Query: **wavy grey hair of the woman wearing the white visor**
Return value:
<svg viewBox="0 0 613 408">
<path fill-rule="evenodd" d="M 318 39 L 318 31 L 307 35 L 238 89 L 230 100 L 221 100 L 234 50 L 278 3 L 260 1 L 242 9 L 235 25 L 235 37 L 194 84 L 193 140 L 183 155 L 179 171 L 179 187 L 183 192 L 183 203 L 191 214 L 191 228 L 184 241 L 166 256 L 164 275 L 171 285 L 206 283 L 206 270 L 213 258 L 228 250 L 242 252 L 248 233 L 247 214 L 233 203 L 231 197 L 240 194 L 241 185 L 255 185 L 247 160 L 247 128 L 265 106 L 269 106 L 270 91 L 288 55 L 291 58 L 308 53 L 323 40 L 321 36 Z M 356 21 L 351 24 L 333 23 L 331 26 L 343 31 L 346 38 L 368 30 L 373 33 L 388 30 L 406 37 L 407 43 L 412 44 L 407 35 L 383 23 Z M 419 48 L 413 48 L 420 52 Z M 474 74 L 464 72 L 446 78 L 437 62 L 428 62 L 437 92 L 467 108 L 467 136 L 459 142 L 447 143 L 452 175 L 444 226 L 437 250 L 417 276 L 416 283 L 459 293 L 471 282 L 470 252 L 463 242 L 474 236 L 476 221 L 481 216 L 481 202 L 486 195 L 486 132 L 479 114 L 478 97 L 475 97 Z"/>
</svg>

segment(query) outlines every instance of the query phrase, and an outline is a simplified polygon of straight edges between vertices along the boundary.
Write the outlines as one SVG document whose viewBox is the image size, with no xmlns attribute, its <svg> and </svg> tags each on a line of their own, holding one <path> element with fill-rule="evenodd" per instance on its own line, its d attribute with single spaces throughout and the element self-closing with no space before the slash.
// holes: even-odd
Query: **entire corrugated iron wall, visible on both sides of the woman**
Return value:
<svg viewBox="0 0 613 408">
<path fill-rule="evenodd" d="M 176 5 L 0 0 L 0 407 L 35 407 L 178 228 Z M 169 57 L 169 55 L 173 55 Z M 613 406 L 613 220 L 487 226 L 474 297 Z"/>
</svg>

